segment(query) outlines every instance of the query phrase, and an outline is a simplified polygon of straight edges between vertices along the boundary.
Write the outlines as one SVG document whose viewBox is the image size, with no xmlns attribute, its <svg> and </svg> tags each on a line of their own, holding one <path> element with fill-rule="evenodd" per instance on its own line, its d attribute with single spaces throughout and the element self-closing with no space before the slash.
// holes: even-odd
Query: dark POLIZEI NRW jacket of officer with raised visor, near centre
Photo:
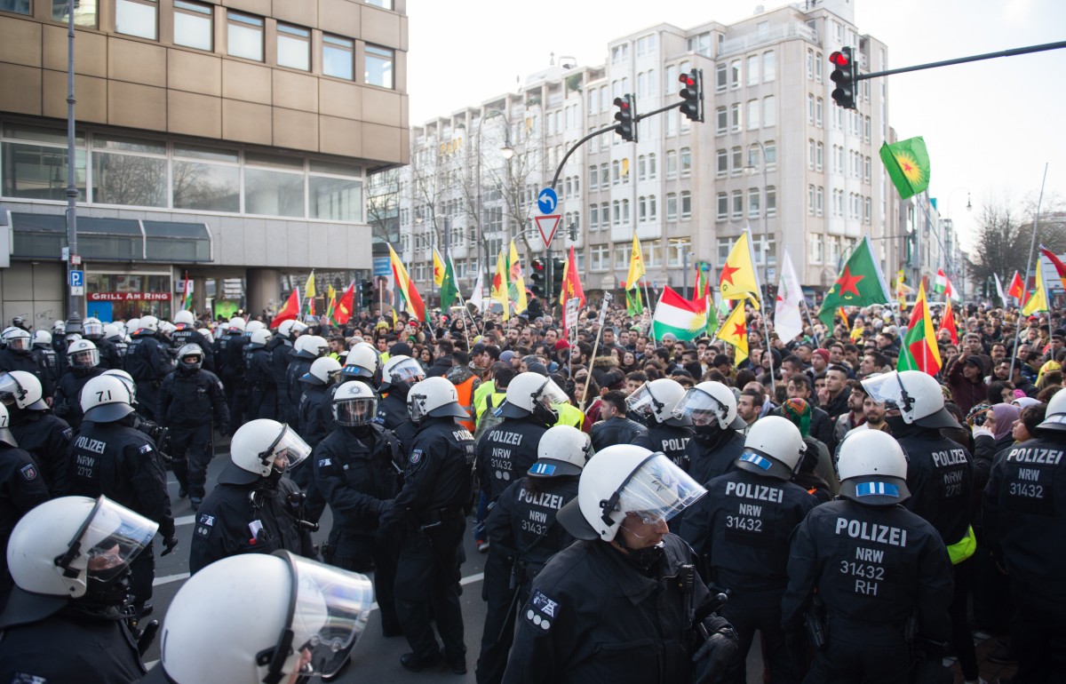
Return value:
<svg viewBox="0 0 1066 684">
<path fill-rule="evenodd" d="M 489 501 L 524 477 L 536 462 L 540 437 L 548 428 L 532 417 L 506 418 L 478 440 L 478 481 Z"/>
</svg>

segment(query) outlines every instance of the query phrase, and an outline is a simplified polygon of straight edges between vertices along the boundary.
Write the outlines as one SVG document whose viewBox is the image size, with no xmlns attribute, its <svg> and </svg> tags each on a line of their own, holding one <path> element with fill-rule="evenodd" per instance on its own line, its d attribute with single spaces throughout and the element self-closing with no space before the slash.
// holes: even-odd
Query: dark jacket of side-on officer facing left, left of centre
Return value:
<svg viewBox="0 0 1066 684">
<path fill-rule="evenodd" d="M 434 517 L 455 515 L 473 498 L 473 436 L 454 418 L 424 418 L 410 445 L 404 483 L 382 516 L 378 534 L 402 522 L 431 524 Z"/>
</svg>

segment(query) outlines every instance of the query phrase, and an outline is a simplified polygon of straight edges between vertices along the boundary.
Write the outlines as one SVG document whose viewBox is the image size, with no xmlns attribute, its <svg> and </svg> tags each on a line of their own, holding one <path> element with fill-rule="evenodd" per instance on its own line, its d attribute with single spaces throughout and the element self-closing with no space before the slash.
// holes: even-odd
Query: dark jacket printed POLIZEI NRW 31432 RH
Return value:
<svg viewBox="0 0 1066 684">
<path fill-rule="evenodd" d="M 788 568 L 787 628 L 800 625 L 817 587 L 830 638 L 837 620 L 902 630 L 915 608 L 918 634 L 934 641 L 951 634 L 948 550 L 933 525 L 903 506 L 837 500 L 813 508 L 793 533 Z"/>
</svg>

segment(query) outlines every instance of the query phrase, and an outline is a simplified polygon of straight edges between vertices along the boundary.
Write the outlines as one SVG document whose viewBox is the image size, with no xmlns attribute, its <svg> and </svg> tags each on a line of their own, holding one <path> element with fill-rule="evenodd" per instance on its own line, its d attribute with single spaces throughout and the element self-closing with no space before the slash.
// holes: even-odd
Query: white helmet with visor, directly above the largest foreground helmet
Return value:
<svg viewBox="0 0 1066 684">
<path fill-rule="evenodd" d="M 285 423 L 269 418 L 248 421 L 229 444 L 229 463 L 219 475 L 225 485 L 251 485 L 277 469 L 286 471 L 307 458 L 311 447 Z"/>
</svg>

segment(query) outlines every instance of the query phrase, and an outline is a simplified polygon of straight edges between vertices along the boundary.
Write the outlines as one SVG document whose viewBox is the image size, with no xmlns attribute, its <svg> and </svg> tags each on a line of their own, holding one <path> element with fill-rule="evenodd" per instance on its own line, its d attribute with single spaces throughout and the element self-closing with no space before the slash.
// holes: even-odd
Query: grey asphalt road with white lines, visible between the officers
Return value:
<svg viewBox="0 0 1066 684">
<path fill-rule="evenodd" d="M 228 460 L 228 454 L 221 453 L 208 468 L 208 491 L 214 486 L 215 477 L 222 471 L 223 466 Z M 178 548 L 174 553 L 165 558 L 158 557 L 161 547 L 156 543 L 156 586 L 152 596 L 152 604 L 156 606 L 152 619 L 160 622 L 164 620 L 166 608 L 169 606 L 174 595 L 177 593 L 181 585 L 189 577 L 189 550 L 190 539 L 193 532 L 193 511 L 188 499 L 178 499 L 178 485 L 172 473 L 167 473 L 167 489 L 171 493 L 172 512 L 177 522 Z M 313 535 L 317 543 L 325 540 L 328 535 L 333 517 L 328 510 L 322 516 L 321 530 Z M 410 649 L 407 641 L 402 637 L 385 638 L 382 635 L 379 613 L 376 607 L 371 613 L 370 622 L 366 632 L 353 651 L 352 665 L 344 672 L 344 675 L 337 680 L 354 684 L 356 682 L 449 682 L 458 684 L 461 682 L 474 682 L 474 663 L 478 659 L 478 651 L 481 642 L 482 626 L 485 622 L 485 602 L 481 600 L 482 571 L 485 565 L 485 556 L 478 553 L 473 545 L 473 538 L 470 535 L 473 521 L 467 521 L 466 563 L 463 564 L 463 619 L 466 624 L 467 645 L 467 674 L 456 675 L 450 670 L 440 669 L 426 670 L 423 672 L 407 672 L 400 666 L 400 656 Z M 145 663 L 151 666 L 159 658 L 159 644 L 145 654 Z M 748 677 L 749 684 L 762 681 L 762 664 L 758 652 L 758 639 L 753 646 L 748 655 Z"/>
</svg>

